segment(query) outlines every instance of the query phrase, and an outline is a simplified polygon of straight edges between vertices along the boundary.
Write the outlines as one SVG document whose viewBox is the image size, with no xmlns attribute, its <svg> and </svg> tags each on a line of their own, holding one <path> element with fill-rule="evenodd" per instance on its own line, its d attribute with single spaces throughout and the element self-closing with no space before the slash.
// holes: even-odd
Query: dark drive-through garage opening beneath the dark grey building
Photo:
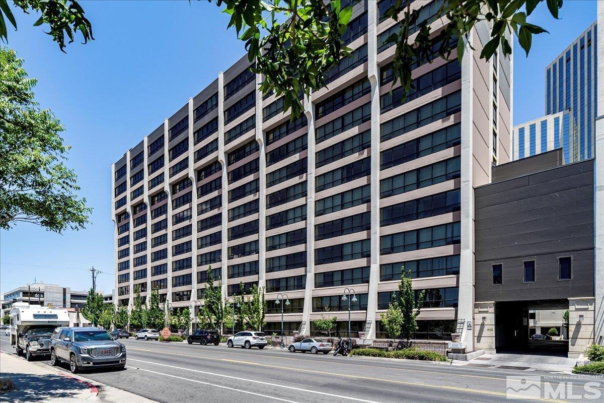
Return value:
<svg viewBox="0 0 604 403">
<path fill-rule="evenodd" d="M 496 351 L 567 356 L 567 311 L 565 299 L 496 303 Z"/>
</svg>

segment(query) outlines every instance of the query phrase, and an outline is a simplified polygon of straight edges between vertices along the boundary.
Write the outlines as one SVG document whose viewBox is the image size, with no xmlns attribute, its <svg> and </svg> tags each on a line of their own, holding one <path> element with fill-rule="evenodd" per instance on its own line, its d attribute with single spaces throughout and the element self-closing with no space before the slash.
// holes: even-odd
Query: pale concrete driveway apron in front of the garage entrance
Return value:
<svg viewBox="0 0 604 403">
<path fill-rule="evenodd" d="M 470 367 L 570 373 L 576 363 L 577 359 L 564 356 L 496 353 L 483 354 L 467 361 L 466 365 Z"/>
</svg>

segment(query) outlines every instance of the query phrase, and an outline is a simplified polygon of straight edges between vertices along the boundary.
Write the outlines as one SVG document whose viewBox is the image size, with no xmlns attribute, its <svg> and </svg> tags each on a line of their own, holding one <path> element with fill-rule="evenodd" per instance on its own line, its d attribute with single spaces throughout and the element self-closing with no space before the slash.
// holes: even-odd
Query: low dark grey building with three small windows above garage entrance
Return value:
<svg viewBox="0 0 604 403">
<path fill-rule="evenodd" d="M 493 167 L 492 184 L 475 189 L 476 349 L 531 348 L 531 311 L 570 311 L 570 357 L 594 342 L 596 160 L 563 158 L 557 149 Z"/>
</svg>

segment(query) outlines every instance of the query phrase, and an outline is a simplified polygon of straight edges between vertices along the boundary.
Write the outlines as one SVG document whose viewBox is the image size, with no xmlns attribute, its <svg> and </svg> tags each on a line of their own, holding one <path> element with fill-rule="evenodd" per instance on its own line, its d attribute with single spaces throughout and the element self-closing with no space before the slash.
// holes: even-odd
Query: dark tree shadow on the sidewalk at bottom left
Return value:
<svg viewBox="0 0 604 403">
<path fill-rule="evenodd" d="M 14 399 L 18 402 L 39 402 L 44 399 L 69 399 L 74 396 L 74 393 L 89 390 L 85 384 L 54 374 L 30 375 L 2 372 L 2 376 L 8 376 L 19 388 L 19 390 L 2 395 L 3 401 Z"/>
</svg>

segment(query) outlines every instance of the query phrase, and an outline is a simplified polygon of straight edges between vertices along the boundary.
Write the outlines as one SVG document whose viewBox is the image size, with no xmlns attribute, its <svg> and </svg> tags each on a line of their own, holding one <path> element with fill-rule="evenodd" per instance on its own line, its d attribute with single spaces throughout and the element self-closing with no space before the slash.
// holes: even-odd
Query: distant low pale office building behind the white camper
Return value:
<svg viewBox="0 0 604 403">
<path fill-rule="evenodd" d="M 72 308 L 86 305 L 86 291 L 73 291 L 69 287 L 56 284 L 34 283 L 5 292 L 2 298 L 2 312 L 8 314 L 13 302 L 28 302 L 30 305 L 49 304 L 54 308 Z"/>
</svg>

